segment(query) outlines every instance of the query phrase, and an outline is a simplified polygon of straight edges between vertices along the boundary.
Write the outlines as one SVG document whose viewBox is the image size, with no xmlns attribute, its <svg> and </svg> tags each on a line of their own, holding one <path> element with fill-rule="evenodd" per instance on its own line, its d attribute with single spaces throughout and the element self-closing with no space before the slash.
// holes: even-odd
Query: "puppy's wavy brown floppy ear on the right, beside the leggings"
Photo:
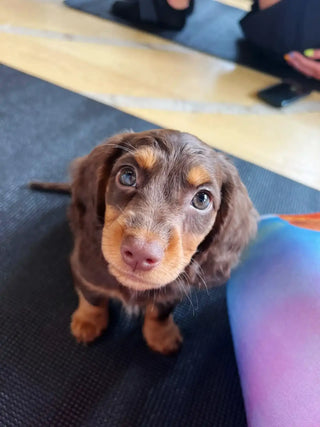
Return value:
<svg viewBox="0 0 320 427">
<path fill-rule="evenodd" d="M 194 257 L 209 285 L 228 280 L 231 268 L 256 234 L 258 219 L 237 169 L 223 154 L 217 156 L 222 178 L 220 207 L 210 233 Z"/>
</svg>

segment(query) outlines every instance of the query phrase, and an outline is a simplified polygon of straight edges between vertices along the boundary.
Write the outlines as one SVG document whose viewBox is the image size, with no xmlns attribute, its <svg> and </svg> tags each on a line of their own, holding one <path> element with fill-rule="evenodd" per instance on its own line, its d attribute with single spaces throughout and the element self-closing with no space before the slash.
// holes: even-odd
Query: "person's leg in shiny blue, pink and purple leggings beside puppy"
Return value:
<svg viewBox="0 0 320 427">
<path fill-rule="evenodd" d="M 249 426 L 320 426 L 317 230 L 320 213 L 263 217 L 227 285 Z"/>
</svg>

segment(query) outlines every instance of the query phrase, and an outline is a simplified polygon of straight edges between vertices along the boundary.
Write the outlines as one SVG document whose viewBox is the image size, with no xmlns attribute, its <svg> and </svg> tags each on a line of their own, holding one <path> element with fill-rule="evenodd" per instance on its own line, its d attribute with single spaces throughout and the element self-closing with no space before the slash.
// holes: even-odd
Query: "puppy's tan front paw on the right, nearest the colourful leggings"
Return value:
<svg viewBox="0 0 320 427">
<path fill-rule="evenodd" d="M 172 316 L 165 321 L 148 319 L 143 326 L 143 335 L 152 350 L 165 355 L 176 353 L 183 341 Z"/>
</svg>

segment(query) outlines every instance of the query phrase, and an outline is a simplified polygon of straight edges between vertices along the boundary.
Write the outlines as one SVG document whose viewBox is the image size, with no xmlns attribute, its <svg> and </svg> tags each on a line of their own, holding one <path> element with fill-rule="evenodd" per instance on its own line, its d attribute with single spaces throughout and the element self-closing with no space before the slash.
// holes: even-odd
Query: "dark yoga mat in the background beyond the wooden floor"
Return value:
<svg viewBox="0 0 320 427">
<path fill-rule="evenodd" d="M 110 21 L 134 26 L 109 12 L 114 1 L 65 0 L 65 4 Z M 150 25 L 135 27 L 283 80 L 295 81 L 311 90 L 320 90 L 319 81 L 304 77 L 289 67 L 285 61 L 271 59 L 269 55 L 243 38 L 239 21 L 245 14 L 246 12 L 241 9 L 213 0 L 195 0 L 194 11 L 181 31 L 155 29 Z"/>
</svg>

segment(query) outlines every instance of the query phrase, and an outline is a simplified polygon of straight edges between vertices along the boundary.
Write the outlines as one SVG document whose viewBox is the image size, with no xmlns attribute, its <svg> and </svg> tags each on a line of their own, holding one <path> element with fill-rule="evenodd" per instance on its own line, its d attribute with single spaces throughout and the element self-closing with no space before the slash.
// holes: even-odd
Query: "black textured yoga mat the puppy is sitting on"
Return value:
<svg viewBox="0 0 320 427">
<path fill-rule="evenodd" d="M 177 307 L 176 356 L 152 353 L 116 303 L 96 343 L 69 332 L 69 199 L 26 183 L 65 180 L 104 138 L 154 125 L 5 66 L 0 92 L 0 425 L 245 426 L 225 287 Z M 319 192 L 234 161 L 261 213 L 319 208 Z"/>
</svg>

